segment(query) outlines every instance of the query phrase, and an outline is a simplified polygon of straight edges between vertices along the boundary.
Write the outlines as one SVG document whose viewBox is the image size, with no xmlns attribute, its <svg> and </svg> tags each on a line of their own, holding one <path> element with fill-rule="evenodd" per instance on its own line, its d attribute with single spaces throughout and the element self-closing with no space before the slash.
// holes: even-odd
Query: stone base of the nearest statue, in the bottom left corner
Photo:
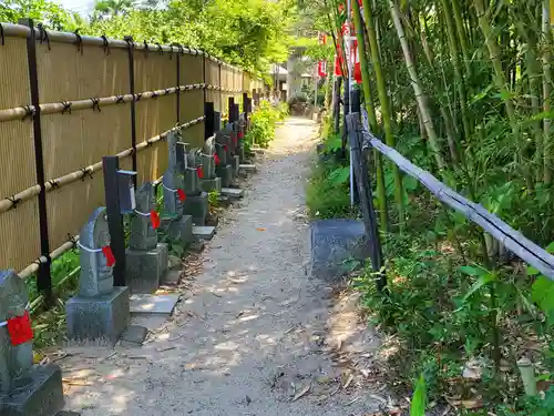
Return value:
<svg viewBox="0 0 554 416">
<path fill-rule="evenodd" d="M 54 364 L 31 368 L 13 385 L 0 396 L 1 416 L 52 416 L 63 407 L 62 371 Z"/>
</svg>

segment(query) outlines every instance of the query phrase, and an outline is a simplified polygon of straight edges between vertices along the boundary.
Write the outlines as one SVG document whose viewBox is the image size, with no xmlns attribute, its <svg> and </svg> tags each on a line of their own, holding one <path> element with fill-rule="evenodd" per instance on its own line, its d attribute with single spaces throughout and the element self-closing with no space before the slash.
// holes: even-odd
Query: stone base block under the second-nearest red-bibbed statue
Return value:
<svg viewBox="0 0 554 416">
<path fill-rule="evenodd" d="M 129 287 L 114 287 L 98 297 L 74 296 L 65 304 L 65 313 L 69 339 L 115 345 L 130 322 Z"/>
</svg>

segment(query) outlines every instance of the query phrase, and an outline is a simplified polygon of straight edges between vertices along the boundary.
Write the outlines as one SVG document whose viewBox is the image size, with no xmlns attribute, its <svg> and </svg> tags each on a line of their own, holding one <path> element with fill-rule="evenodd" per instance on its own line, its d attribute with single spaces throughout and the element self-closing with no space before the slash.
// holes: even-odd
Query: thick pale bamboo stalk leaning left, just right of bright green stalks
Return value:
<svg viewBox="0 0 554 416">
<path fill-rule="evenodd" d="M 439 170 L 443 170 L 445 168 L 445 163 L 440 152 L 439 136 L 437 135 L 437 132 L 434 130 L 434 125 L 431 120 L 429 109 L 427 106 L 427 97 L 423 93 L 423 90 L 421 89 L 421 82 L 419 81 L 419 77 L 416 71 L 416 67 L 413 64 L 408 41 L 406 39 L 404 29 L 402 27 L 402 22 L 400 21 L 400 12 L 398 10 L 398 6 L 394 3 L 393 0 L 389 0 L 389 6 L 390 6 L 390 13 L 394 22 L 394 28 L 397 29 L 398 39 L 400 40 L 400 45 L 402 47 L 402 51 L 404 54 L 406 67 L 408 69 L 408 73 L 410 74 L 410 83 L 412 84 L 413 92 L 416 94 L 416 100 L 418 101 L 418 105 L 420 106 L 421 110 L 421 118 L 429 138 L 429 144 L 431 151 L 433 152 L 433 156 L 437 162 L 437 165 L 439 166 Z"/>
</svg>

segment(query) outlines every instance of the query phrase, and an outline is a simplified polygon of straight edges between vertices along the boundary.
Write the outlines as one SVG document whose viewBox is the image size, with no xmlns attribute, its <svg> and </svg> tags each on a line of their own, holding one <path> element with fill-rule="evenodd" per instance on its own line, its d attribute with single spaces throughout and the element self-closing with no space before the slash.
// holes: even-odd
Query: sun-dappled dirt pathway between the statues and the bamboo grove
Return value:
<svg viewBox="0 0 554 416">
<path fill-rule="evenodd" d="M 68 409 L 83 416 L 372 414 L 370 393 L 330 358 L 331 292 L 306 274 L 304 189 L 316 133 L 302 119 L 278 128 L 245 200 L 204 254 L 204 272 L 153 343 L 63 361 L 65 377 L 86 381 L 70 386 Z M 357 325 L 347 317 L 339 327 Z"/>
</svg>

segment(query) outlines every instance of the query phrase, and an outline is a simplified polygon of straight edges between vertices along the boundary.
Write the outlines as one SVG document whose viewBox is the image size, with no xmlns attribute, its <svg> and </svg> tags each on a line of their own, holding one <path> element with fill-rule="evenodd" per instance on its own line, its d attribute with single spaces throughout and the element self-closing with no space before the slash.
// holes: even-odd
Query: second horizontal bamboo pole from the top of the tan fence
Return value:
<svg viewBox="0 0 554 416">
<path fill-rule="evenodd" d="M 73 110 L 86 110 L 94 109 L 96 106 L 103 108 L 107 105 L 115 105 L 120 103 L 131 102 L 131 101 L 140 101 L 147 99 L 155 99 L 163 95 L 171 95 L 176 93 L 177 91 L 191 91 L 191 90 L 202 90 L 205 88 L 205 84 L 189 84 L 189 85 L 181 85 L 181 87 L 172 87 L 165 90 L 156 90 L 156 91 L 145 91 L 136 94 L 125 94 L 125 95 L 112 95 L 105 98 L 92 98 L 88 100 L 76 100 L 76 101 L 63 101 L 63 102 L 54 102 L 54 103 L 45 103 L 40 104 L 41 114 L 55 114 L 63 113 L 64 111 L 73 111 Z M 10 121 L 10 120 L 22 120 L 25 116 L 34 113 L 34 106 L 18 106 L 16 109 L 0 110 L 0 122 Z"/>
</svg>

